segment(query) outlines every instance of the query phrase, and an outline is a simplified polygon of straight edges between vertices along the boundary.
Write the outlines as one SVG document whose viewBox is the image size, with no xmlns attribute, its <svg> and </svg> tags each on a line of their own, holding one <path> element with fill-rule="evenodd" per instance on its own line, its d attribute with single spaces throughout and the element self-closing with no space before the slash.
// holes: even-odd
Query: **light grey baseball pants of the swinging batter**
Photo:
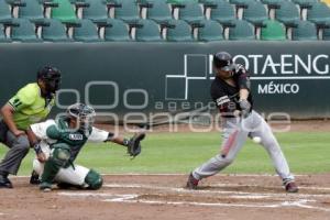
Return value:
<svg viewBox="0 0 330 220">
<path fill-rule="evenodd" d="M 201 166 L 197 167 L 193 172 L 195 178 L 201 179 L 219 173 L 233 162 L 248 136 L 251 139 L 260 136 L 261 145 L 271 156 L 277 174 L 284 182 L 294 179 L 271 127 L 257 112 L 252 111 L 251 114 L 243 120 L 240 120 L 239 118 L 224 118 L 222 127 L 222 153 L 219 153 Z M 223 152 L 226 156 L 222 156 Z"/>
</svg>

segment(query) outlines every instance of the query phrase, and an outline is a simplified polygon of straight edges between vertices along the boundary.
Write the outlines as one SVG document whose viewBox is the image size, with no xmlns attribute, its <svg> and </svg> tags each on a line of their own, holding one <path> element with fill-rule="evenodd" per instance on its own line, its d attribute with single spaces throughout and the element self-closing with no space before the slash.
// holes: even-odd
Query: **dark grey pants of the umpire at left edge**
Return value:
<svg viewBox="0 0 330 220">
<path fill-rule="evenodd" d="M 30 150 L 28 136 L 15 136 L 11 131 L 9 131 L 7 124 L 1 120 L 0 142 L 10 148 L 0 163 L 0 172 L 16 175 L 23 158 Z"/>
</svg>

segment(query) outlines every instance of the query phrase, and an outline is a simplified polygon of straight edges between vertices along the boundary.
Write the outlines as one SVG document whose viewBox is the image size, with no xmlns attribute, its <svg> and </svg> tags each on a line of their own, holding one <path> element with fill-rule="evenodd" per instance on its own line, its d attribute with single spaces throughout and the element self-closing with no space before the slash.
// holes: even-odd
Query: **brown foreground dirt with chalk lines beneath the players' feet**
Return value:
<svg viewBox="0 0 330 220">
<path fill-rule="evenodd" d="M 299 194 L 285 194 L 277 176 L 218 175 L 196 191 L 186 175 L 108 175 L 100 190 L 42 193 L 26 177 L 0 189 L 0 219 L 176 220 L 330 219 L 330 175 L 297 176 Z"/>
</svg>

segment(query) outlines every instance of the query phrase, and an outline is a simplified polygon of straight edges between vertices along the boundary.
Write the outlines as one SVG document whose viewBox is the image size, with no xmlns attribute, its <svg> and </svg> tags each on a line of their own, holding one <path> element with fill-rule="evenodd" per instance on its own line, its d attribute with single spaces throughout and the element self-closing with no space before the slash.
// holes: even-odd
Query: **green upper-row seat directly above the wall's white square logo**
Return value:
<svg viewBox="0 0 330 220">
<path fill-rule="evenodd" d="M 188 22 L 189 24 L 199 23 L 205 20 L 202 9 L 198 2 L 189 1 L 180 4 L 178 19 Z"/>
</svg>

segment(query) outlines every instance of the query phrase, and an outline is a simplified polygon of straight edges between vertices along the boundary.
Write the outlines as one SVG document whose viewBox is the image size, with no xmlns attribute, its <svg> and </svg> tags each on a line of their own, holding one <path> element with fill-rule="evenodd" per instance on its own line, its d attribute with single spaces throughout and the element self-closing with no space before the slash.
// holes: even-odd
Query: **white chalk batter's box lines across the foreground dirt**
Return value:
<svg viewBox="0 0 330 220">
<path fill-rule="evenodd" d="M 320 211 L 330 211 L 330 209 L 322 208 L 322 207 L 314 207 L 307 205 L 307 202 L 316 202 L 312 199 L 306 199 L 306 197 L 311 198 L 314 196 L 327 196 L 330 195 L 289 195 L 296 197 L 295 201 L 287 201 L 285 196 L 288 194 L 256 194 L 256 193 L 240 193 L 240 191 L 210 191 L 210 190 L 188 190 L 183 188 L 175 188 L 175 187 L 158 187 L 158 186 L 151 186 L 151 185 L 122 185 L 122 184 L 109 184 L 105 185 L 105 187 L 112 187 L 112 188 L 146 188 L 146 189 L 157 189 L 157 190 L 172 190 L 172 191 L 179 191 L 179 193 L 189 193 L 189 194 L 227 194 L 226 197 L 222 198 L 239 198 L 239 199 L 265 199 L 265 198 L 273 198 L 276 200 L 283 200 L 279 204 L 272 204 L 272 205 L 249 205 L 249 204 L 215 204 L 215 202 L 191 202 L 191 201 L 160 201 L 160 200 L 146 200 L 146 199 L 139 199 L 139 195 L 136 194 L 128 194 L 128 195 L 120 195 L 120 194 L 107 194 L 107 193 L 58 193 L 62 196 L 72 196 L 72 197 L 110 197 L 106 198 L 102 201 L 108 202 L 127 202 L 127 204 L 154 204 L 154 205 L 176 205 L 176 206 L 204 206 L 204 207 L 245 207 L 245 208 L 280 208 L 280 207 L 297 207 L 304 209 L 314 209 Z M 230 194 L 230 195 L 228 195 Z M 305 197 L 305 198 L 300 198 Z"/>
</svg>

